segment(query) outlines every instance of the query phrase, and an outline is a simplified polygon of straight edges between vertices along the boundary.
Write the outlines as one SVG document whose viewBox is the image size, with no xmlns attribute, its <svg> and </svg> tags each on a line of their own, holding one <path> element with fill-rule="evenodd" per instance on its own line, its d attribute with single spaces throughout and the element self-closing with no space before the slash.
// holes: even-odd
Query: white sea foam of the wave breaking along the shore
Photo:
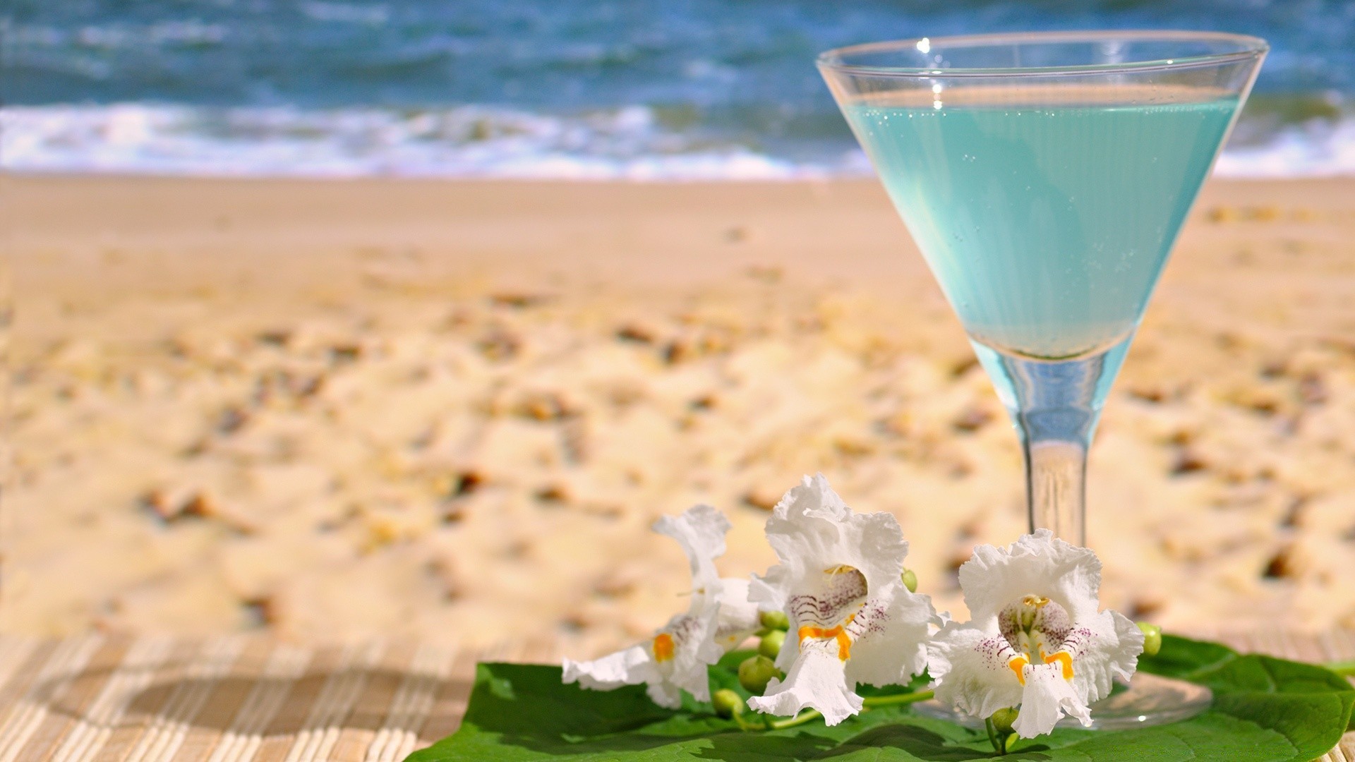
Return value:
<svg viewBox="0 0 1355 762">
<path fill-rule="evenodd" d="M 797 179 L 863 176 L 847 146 L 790 160 L 682 132 L 646 107 L 543 115 L 442 110 L 207 108 L 125 103 L 0 111 L 0 163 L 18 172 L 206 176 Z M 1230 148 L 1224 176 L 1355 175 L 1355 119 L 1293 125 Z"/>
</svg>

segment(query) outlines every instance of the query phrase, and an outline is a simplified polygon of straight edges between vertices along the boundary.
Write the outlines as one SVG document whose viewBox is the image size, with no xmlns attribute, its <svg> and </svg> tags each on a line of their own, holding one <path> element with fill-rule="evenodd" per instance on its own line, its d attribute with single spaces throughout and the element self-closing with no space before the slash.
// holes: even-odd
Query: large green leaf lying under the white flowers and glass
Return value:
<svg viewBox="0 0 1355 762">
<path fill-rule="evenodd" d="M 711 690 L 747 697 L 736 673 L 749 654 L 733 652 L 713 666 Z M 1140 668 L 1209 686 L 1213 708 L 1152 728 L 1060 728 L 995 757 L 985 731 L 921 717 L 905 705 L 869 709 L 832 728 L 813 721 L 744 732 L 690 696 L 669 710 L 650 702 L 644 686 L 583 690 L 562 685 L 558 667 L 480 664 L 461 729 L 409 762 L 1309 762 L 1336 746 L 1355 706 L 1355 689 L 1329 670 L 1243 656 L 1214 643 L 1164 636 L 1163 649 Z M 924 683 L 920 678 L 912 687 Z M 873 696 L 905 690 L 862 687 Z"/>
</svg>

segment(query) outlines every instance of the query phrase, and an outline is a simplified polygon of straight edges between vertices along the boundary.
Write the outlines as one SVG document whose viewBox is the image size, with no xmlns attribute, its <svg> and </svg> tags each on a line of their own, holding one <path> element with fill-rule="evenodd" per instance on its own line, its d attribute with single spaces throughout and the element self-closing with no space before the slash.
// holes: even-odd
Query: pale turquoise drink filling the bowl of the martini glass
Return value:
<svg viewBox="0 0 1355 762">
<path fill-rule="evenodd" d="M 1237 100 L 850 104 L 970 336 L 1041 359 L 1133 334 Z"/>
</svg>

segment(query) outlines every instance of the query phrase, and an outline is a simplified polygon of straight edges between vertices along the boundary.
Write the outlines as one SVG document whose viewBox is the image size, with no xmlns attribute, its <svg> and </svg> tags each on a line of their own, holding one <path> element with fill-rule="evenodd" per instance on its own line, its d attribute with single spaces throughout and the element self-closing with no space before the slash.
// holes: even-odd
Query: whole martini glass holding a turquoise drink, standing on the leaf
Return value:
<svg viewBox="0 0 1355 762">
<path fill-rule="evenodd" d="M 1012 416 L 1031 532 L 1087 544 L 1102 404 L 1266 50 L 1232 34 L 1108 31 L 818 58 Z M 1209 702 L 1206 689 L 1145 674 L 1092 717 L 1159 724 Z"/>
</svg>

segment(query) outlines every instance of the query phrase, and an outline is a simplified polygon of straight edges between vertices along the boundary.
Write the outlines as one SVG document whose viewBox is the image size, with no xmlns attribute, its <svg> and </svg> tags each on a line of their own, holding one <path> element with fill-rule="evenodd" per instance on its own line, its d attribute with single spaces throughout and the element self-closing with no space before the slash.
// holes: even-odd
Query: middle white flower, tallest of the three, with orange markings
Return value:
<svg viewBox="0 0 1355 762">
<path fill-rule="evenodd" d="M 767 521 L 780 564 L 755 578 L 749 597 L 790 618 L 772 679 L 748 705 L 771 715 L 813 706 L 829 725 L 862 708 L 858 683 L 897 685 L 927 663 L 931 598 L 904 587 L 908 542 L 885 513 L 852 514 L 821 475 L 805 477 Z"/>
</svg>

